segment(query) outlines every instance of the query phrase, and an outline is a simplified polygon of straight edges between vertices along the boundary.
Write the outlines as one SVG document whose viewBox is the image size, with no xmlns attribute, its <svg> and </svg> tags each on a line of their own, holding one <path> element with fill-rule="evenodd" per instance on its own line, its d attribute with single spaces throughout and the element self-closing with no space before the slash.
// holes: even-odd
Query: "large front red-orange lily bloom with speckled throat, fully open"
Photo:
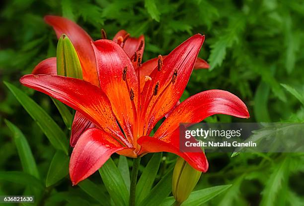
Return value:
<svg viewBox="0 0 304 206">
<path fill-rule="evenodd" d="M 180 99 L 204 36 L 196 34 L 175 48 L 157 67 L 141 89 L 142 65 L 110 40 L 92 43 L 99 86 L 58 75 L 25 75 L 20 82 L 46 93 L 74 108 L 97 128 L 87 129 L 76 141 L 70 161 L 70 177 L 75 185 L 98 170 L 112 153 L 139 157 L 148 152 L 172 152 L 193 168 L 206 172 L 203 152 L 179 150 L 180 122 L 201 122 L 214 114 L 248 118 L 245 104 L 223 90 L 209 90 Z M 143 90 L 141 92 L 141 90 Z M 175 107 L 175 108 L 174 108 Z M 172 108 L 168 118 L 149 137 L 155 124 Z"/>
</svg>

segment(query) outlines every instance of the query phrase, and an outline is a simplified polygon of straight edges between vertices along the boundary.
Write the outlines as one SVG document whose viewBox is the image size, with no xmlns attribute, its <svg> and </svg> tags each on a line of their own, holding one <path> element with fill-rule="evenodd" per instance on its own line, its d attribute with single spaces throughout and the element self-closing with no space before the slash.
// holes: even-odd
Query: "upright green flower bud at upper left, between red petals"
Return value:
<svg viewBox="0 0 304 206">
<path fill-rule="evenodd" d="M 58 40 L 56 56 L 58 75 L 82 79 L 82 69 L 76 50 L 65 34 Z"/>
</svg>

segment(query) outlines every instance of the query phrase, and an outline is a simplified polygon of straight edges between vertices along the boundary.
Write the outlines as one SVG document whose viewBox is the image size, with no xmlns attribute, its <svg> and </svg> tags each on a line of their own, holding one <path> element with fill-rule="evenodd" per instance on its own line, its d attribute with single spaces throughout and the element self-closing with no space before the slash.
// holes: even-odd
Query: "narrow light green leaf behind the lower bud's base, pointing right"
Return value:
<svg viewBox="0 0 304 206">
<path fill-rule="evenodd" d="M 190 194 L 189 198 L 183 204 L 181 204 L 181 206 L 201 206 L 217 195 L 226 191 L 229 187 L 231 187 L 231 185 L 219 185 L 194 191 Z M 171 206 L 174 201 L 174 197 L 168 197 L 161 203 L 160 206 Z"/>
</svg>

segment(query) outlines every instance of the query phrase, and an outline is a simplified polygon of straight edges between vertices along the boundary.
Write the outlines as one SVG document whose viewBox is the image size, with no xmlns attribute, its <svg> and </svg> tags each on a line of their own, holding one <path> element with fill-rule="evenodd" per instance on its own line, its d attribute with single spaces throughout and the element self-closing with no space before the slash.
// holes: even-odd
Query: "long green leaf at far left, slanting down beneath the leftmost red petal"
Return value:
<svg viewBox="0 0 304 206">
<path fill-rule="evenodd" d="M 4 84 L 13 93 L 33 120 L 36 121 L 40 129 L 50 140 L 51 144 L 55 148 L 63 150 L 68 155 L 68 139 L 54 120 L 23 91 L 8 82 L 4 82 Z"/>
</svg>

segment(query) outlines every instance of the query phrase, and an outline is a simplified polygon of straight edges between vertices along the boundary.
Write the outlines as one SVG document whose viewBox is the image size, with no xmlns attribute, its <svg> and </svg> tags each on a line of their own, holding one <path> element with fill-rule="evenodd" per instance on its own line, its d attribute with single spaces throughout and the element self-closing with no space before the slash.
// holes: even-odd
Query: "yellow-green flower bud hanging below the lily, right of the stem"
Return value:
<svg viewBox="0 0 304 206">
<path fill-rule="evenodd" d="M 177 203 L 188 199 L 202 172 L 193 169 L 184 159 L 178 157 L 172 177 L 172 193 Z"/>
</svg>

